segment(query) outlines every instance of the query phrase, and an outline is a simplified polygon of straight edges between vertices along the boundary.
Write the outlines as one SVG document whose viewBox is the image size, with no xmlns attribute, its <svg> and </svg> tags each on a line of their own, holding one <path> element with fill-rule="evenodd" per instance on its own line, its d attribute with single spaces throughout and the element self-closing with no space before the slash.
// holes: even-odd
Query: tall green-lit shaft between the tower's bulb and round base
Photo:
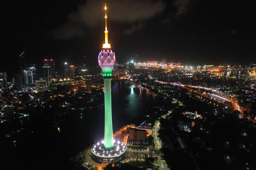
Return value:
<svg viewBox="0 0 256 170">
<path fill-rule="evenodd" d="M 114 147 L 113 128 L 112 128 L 112 110 L 111 110 L 111 79 L 104 79 L 105 88 L 105 132 L 104 148 L 110 150 Z"/>
</svg>

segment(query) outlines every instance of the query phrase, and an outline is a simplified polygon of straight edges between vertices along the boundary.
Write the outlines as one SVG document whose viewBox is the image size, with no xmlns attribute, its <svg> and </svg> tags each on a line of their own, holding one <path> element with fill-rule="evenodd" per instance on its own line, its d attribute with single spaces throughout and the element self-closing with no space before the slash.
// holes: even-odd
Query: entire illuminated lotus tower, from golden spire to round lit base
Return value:
<svg viewBox="0 0 256 170">
<path fill-rule="evenodd" d="M 105 4 L 105 12 L 107 7 Z M 115 162 L 122 159 L 126 146 L 113 139 L 112 108 L 111 108 L 111 78 L 115 65 L 115 53 L 108 43 L 107 12 L 105 13 L 105 43 L 99 52 L 98 63 L 103 71 L 104 79 L 104 100 L 105 100 L 105 130 L 104 140 L 98 142 L 92 148 L 93 159 L 97 162 Z"/>
</svg>

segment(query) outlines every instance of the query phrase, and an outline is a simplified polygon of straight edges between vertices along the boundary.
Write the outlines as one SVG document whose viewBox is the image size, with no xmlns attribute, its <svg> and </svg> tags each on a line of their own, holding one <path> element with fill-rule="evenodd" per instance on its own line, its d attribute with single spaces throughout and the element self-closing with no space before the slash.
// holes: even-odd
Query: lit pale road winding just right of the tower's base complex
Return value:
<svg viewBox="0 0 256 170">
<path fill-rule="evenodd" d="M 165 118 L 167 115 L 169 115 L 171 112 L 169 112 L 168 114 L 164 115 L 163 118 Z M 159 121 L 156 122 L 155 126 L 153 127 L 153 137 L 154 137 L 154 143 L 155 143 L 155 148 L 156 151 L 154 153 L 154 155 L 152 155 L 153 157 L 157 157 L 158 158 L 158 165 L 159 165 L 159 169 L 160 170 L 169 170 L 169 168 L 167 167 L 166 163 L 164 161 L 160 160 L 160 156 L 162 155 L 161 152 L 159 151 L 159 149 L 161 149 L 162 147 L 162 142 L 160 139 L 158 139 L 158 130 L 160 128 L 160 123 Z"/>
</svg>

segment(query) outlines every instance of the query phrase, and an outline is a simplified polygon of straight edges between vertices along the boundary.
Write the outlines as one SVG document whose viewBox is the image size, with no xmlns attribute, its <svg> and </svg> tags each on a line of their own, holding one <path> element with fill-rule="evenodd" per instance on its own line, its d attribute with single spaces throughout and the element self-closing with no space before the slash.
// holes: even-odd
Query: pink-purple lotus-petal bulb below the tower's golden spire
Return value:
<svg viewBox="0 0 256 170">
<path fill-rule="evenodd" d="M 115 65 L 115 53 L 112 50 L 101 50 L 98 56 L 98 62 L 103 71 L 111 71 Z"/>
</svg>

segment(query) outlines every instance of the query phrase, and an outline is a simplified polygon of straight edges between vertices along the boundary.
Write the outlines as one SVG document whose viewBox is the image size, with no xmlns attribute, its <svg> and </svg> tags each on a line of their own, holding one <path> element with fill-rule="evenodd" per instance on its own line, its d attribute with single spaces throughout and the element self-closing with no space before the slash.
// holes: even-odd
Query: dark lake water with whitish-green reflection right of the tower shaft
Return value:
<svg viewBox="0 0 256 170">
<path fill-rule="evenodd" d="M 145 118 L 140 116 L 155 104 L 155 96 L 129 83 L 117 82 L 113 85 L 111 97 L 114 130 L 126 124 L 141 123 Z"/>
</svg>

